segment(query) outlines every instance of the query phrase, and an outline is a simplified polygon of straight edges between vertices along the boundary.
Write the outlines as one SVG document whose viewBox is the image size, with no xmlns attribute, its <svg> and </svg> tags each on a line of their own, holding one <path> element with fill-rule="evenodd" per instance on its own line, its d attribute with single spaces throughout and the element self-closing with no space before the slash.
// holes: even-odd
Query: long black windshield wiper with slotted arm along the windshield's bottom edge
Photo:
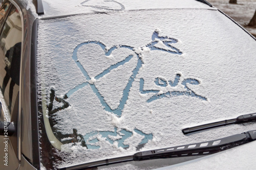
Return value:
<svg viewBox="0 0 256 170">
<path fill-rule="evenodd" d="M 86 169 L 98 166 L 105 166 L 115 163 L 129 162 L 129 161 L 143 161 L 159 158 L 177 158 L 185 156 L 206 156 L 230 148 L 237 147 L 241 144 L 256 140 L 256 130 L 224 137 L 217 140 L 211 140 L 200 143 L 179 145 L 177 147 L 163 148 L 151 151 L 138 152 L 134 155 L 104 159 L 89 163 L 83 163 L 74 166 L 62 167 L 58 169 Z"/>
</svg>

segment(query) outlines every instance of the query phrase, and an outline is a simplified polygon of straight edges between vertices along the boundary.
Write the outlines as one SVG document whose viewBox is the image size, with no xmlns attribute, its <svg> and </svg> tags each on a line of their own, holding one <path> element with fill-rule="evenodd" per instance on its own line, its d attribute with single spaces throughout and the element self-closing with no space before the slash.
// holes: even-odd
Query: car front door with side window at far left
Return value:
<svg viewBox="0 0 256 170">
<path fill-rule="evenodd" d="M 11 135 L 5 130 L 0 136 L 0 169 L 17 169 L 17 115 L 19 98 L 19 70 L 22 50 L 22 20 L 17 8 L 6 1 L 0 9 L 0 100 L 1 122 L 13 122 L 16 130 Z"/>
</svg>

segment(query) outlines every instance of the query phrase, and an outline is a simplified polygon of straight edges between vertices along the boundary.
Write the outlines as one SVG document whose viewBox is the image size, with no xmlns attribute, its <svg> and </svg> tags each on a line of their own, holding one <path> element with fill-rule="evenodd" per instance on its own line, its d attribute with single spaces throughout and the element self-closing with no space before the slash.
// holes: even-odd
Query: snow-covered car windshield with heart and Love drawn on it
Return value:
<svg viewBox="0 0 256 170">
<path fill-rule="evenodd" d="M 256 129 L 250 123 L 211 135 L 181 131 L 255 112 L 255 45 L 215 8 L 40 19 L 42 164 L 66 166 Z"/>
</svg>

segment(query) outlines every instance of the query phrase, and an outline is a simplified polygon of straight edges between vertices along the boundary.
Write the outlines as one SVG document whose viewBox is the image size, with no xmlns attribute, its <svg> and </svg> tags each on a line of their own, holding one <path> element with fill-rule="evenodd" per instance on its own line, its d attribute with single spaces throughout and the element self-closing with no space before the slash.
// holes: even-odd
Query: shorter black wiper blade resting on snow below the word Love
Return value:
<svg viewBox="0 0 256 170">
<path fill-rule="evenodd" d="M 183 134 L 188 134 L 188 133 L 198 132 L 206 129 L 217 128 L 220 126 L 226 126 L 231 124 L 243 124 L 243 123 L 254 122 L 254 121 L 256 121 L 256 113 L 250 113 L 250 114 L 240 115 L 237 118 L 232 118 L 232 119 L 222 120 L 219 122 L 185 128 L 182 130 L 182 132 Z"/>
</svg>

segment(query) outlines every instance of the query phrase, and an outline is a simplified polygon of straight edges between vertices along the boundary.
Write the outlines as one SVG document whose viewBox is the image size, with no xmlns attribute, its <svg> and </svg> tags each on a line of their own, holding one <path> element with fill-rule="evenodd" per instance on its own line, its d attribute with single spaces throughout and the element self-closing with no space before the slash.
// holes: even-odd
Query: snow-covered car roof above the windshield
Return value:
<svg viewBox="0 0 256 170">
<path fill-rule="evenodd" d="M 45 14 L 41 18 L 56 17 L 63 15 L 86 14 L 95 12 L 113 12 L 127 10 L 146 10 L 146 9 L 181 9 L 181 8 L 196 8 L 196 9 L 215 9 L 204 3 L 196 0 L 62 0 L 42 1 Z"/>
</svg>

